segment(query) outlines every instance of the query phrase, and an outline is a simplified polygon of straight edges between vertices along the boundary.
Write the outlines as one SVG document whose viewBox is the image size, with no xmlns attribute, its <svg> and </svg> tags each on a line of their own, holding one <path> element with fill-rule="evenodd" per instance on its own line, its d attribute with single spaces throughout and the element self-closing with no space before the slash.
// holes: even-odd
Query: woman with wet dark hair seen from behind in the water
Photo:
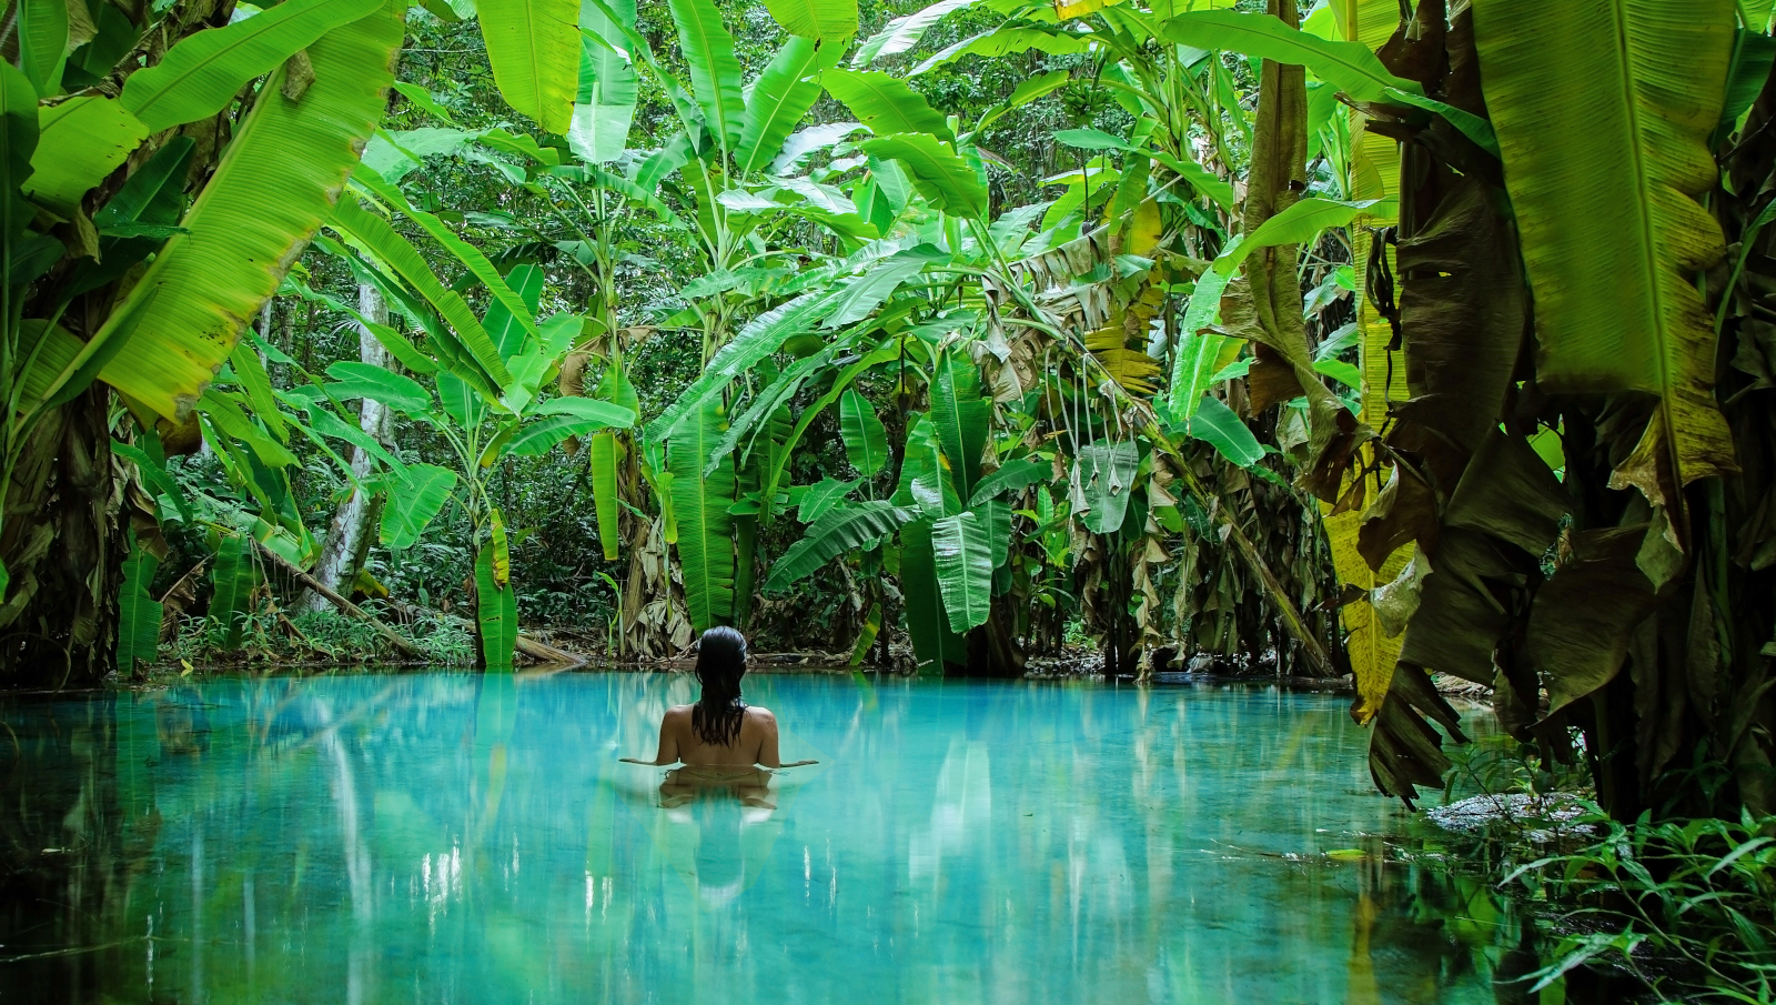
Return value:
<svg viewBox="0 0 1776 1005">
<path fill-rule="evenodd" d="M 629 764 L 691 767 L 799 767 L 815 764 L 778 760 L 776 716 L 741 701 L 746 675 L 746 639 L 728 627 L 703 632 L 696 645 L 696 678 L 703 696 L 696 705 L 675 705 L 661 719 L 661 742 L 654 760 L 625 756 Z"/>
</svg>

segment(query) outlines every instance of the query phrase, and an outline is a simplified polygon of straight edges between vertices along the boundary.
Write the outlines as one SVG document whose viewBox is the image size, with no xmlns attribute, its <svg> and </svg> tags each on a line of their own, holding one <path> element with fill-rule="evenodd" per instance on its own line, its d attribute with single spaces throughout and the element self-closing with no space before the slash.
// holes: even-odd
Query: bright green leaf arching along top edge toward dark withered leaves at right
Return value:
<svg viewBox="0 0 1776 1005">
<path fill-rule="evenodd" d="M 1188 11 L 1167 20 L 1160 36 L 1174 44 L 1238 51 L 1288 66 L 1305 66 L 1314 76 L 1357 101 L 1380 101 L 1389 87 L 1408 94 L 1424 89 L 1401 80 L 1362 43 L 1321 39 L 1291 28 L 1272 14 Z M 1538 46 L 1543 55 L 1545 46 Z"/>
</svg>

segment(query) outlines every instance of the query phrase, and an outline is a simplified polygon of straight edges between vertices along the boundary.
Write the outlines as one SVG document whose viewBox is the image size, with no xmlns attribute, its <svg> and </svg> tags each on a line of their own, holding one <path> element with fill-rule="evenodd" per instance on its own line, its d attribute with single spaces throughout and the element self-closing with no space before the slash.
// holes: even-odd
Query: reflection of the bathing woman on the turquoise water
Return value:
<svg viewBox="0 0 1776 1005">
<path fill-rule="evenodd" d="M 694 827 L 693 879 L 698 897 L 718 907 L 746 890 L 749 831 L 776 813 L 773 774 L 757 767 L 678 767 L 661 781 L 661 810 L 671 827 Z M 764 836 L 764 835 L 760 835 Z M 769 842 L 764 842 L 769 847 Z"/>
</svg>

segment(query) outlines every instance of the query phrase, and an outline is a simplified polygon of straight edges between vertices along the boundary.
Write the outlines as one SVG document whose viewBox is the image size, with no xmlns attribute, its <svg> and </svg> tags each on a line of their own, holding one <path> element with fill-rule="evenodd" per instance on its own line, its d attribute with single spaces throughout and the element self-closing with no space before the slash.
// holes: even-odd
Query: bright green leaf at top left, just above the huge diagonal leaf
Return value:
<svg viewBox="0 0 1776 1005">
<path fill-rule="evenodd" d="M 206 28 L 167 50 L 158 64 L 131 73 L 119 103 L 149 133 L 208 119 L 227 108 L 254 76 L 270 73 L 314 39 L 378 7 L 380 0 L 286 0 L 233 25 Z M 281 75 L 274 83 L 282 87 L 282 80 Z"/>
</svg>

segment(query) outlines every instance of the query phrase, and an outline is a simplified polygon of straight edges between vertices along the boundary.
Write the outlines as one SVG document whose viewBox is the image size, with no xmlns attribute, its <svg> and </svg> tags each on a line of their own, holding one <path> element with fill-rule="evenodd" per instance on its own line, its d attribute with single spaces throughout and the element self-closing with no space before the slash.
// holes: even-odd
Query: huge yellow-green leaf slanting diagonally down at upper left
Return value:
<svg viewBox="0 0 1776 1005">
<path fill-rule="evenodd" d="M 300 101 L 282 94 L 284 69 L 272 75 L 185 215 L 190 233 L 167 241 L 89 339 L 83 357 L 117 353 L 99 371 L 107 384 L 169 419 L 190 410 L 357 165 L 394 80 L 405 11 L 389 0 L 311 44 L 314 83 Z"/>
</svg>

